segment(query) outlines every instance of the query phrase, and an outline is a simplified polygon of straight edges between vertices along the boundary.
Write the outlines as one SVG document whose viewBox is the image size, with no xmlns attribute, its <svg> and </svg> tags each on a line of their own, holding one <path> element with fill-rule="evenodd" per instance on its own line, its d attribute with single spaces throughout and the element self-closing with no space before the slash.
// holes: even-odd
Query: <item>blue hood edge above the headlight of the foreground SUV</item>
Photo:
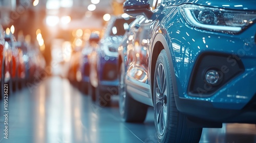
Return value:
<svg viewBox="0 0 256 143">
<path fill-rule="evenodd" d="M 181 5 L 181 4 L 196 4 L 209 7 L 234 9 L 234 10 L 256 10 L 255 0 L 216 0 L 216 1 L 205 1 L 205 0 L 177 0 L 177 1 L 167 1 L 170 5 Z"/>
</svg>

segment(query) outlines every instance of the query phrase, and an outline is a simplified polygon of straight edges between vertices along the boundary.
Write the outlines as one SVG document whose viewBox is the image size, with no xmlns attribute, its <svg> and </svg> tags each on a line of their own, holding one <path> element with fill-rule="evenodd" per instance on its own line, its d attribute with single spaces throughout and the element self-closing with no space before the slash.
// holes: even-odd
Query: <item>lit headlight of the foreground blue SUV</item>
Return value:
<svg viewBox="0 0 256 143">
<path fill-rule="evenodd" d="M 179 11 L 190 26 L 223 33 L 239 33 L 256 20 L 256 13 L 250 11 L 198 5 L 182 5 Z"/>
</svg>

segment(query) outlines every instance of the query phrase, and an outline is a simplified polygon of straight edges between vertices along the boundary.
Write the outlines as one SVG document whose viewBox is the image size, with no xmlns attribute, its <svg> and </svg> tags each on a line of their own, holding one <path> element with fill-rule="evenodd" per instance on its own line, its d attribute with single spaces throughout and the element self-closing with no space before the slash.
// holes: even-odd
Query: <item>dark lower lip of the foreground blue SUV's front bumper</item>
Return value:
<svg viewBox="0 0 256 143">
<path fill-rule="evenodd" d="M 176 104 L 182 113 L 201 118 L 203 120 L 220 123 L 250 123 L 256 124 L 256 94 L 242 109 L 222 109 L 216 108 L 214 104 L 208 101 L 184 99 L 175 97 Z M 235 103 L 223 103 L 226 106 L 236 106 Z"/>
</svg>

